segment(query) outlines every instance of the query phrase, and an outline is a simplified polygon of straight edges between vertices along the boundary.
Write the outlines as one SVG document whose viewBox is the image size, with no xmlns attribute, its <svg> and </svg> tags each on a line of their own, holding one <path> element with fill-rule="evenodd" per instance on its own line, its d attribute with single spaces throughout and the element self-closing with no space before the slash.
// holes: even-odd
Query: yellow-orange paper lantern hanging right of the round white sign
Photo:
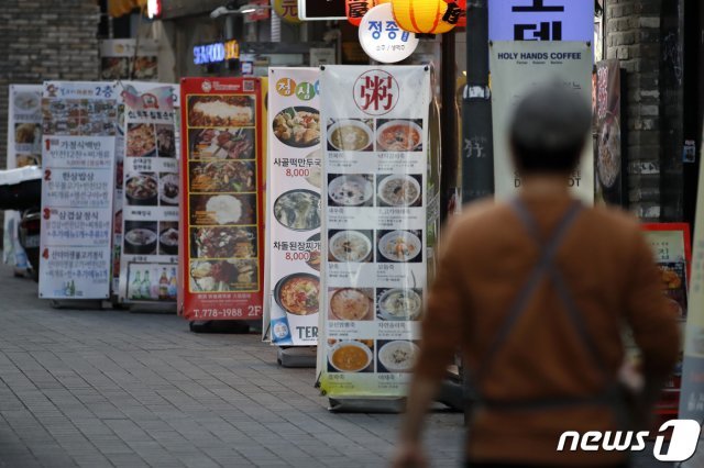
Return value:
<svg viewBox="0 0 704 468">
<path fill-rule="evenodd" d="M 459 11 L 444 0 L 392 0 L 394 19 L 398 27 L 417 34 L 442 34 L 452 30 L 451 22 Z"/>
</svg>

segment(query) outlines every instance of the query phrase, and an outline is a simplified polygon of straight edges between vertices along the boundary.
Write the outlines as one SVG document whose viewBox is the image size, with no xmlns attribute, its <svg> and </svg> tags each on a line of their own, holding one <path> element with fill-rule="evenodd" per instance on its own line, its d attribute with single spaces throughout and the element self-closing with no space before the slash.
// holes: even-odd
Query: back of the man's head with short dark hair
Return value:
<svg viewBox="0 0 704 468">
<path fill-rule="evenodd" d="M 569 174 L 592 125 L 588 104 L 560 82 L 539 86 L 518 104 L 509 127 L 510 145 L 521 174 Z"/>
</svg>

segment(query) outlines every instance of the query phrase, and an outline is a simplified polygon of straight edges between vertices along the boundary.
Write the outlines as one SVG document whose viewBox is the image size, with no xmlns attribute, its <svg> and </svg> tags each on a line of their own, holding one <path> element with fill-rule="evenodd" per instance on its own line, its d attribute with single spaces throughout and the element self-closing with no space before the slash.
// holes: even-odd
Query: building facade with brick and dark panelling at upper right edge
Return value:
<svg viewBox="0 0 704 468">
<path fill-rule="evenodd" d="M 702 133 L 700 0 L 602 0 L 604 56 L 625 73 L 628 207 L 693 222 Z M 683 161 L 694 142 L 694 163 Z"/>
</svg>

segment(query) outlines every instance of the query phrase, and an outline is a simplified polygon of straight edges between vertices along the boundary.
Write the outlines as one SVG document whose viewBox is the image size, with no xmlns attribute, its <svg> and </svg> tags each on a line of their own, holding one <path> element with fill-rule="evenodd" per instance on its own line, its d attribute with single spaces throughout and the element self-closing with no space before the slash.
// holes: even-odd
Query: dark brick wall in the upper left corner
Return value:
<svg viewBox="0 0 704 468">
<path fill-rule="evenodd" d="M 0 168 L 4 168 L 8 86 L 98 79 L 100 8 L 96 0 L 0 3 Z"/>
</svg>

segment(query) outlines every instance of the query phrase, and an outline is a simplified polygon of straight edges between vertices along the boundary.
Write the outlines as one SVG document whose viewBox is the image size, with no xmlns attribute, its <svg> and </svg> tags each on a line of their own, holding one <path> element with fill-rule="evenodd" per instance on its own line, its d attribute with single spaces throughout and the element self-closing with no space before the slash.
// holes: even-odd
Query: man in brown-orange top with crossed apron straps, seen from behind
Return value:
<svg viewBox="0 0 704 468">
<path fill-rule="evenodd" d="M 623 325 L 642 352 L 642 412 L 680 349 L 638 221 L 569 192 L 588 105 L 536 89 L 510 126 L 520 193 L 468 207 L 449 226 L 395 466 L 425 466 L 425 413 L 458 348 L 471 376 L 469 467 L 626 467 L 625 452 L 558 450 L 566 431 L 632 430 L 619 385 Z M 571 444 L 568 444 L 568 446 Z"/>
</svg>

